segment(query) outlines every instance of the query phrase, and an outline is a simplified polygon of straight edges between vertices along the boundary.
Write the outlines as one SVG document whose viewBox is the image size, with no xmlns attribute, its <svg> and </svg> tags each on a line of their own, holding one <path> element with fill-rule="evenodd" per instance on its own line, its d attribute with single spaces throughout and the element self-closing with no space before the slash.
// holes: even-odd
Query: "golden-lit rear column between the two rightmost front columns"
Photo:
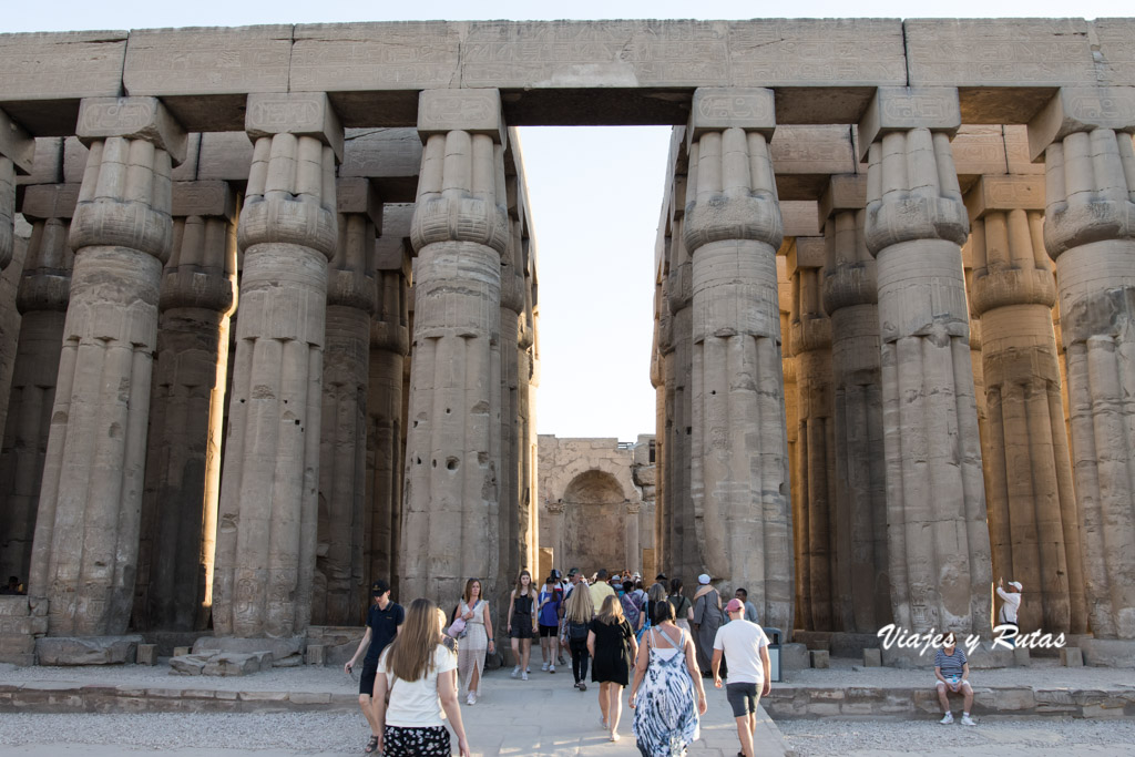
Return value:
<svg viewBox="0 0 1135 757">
<path fill-rule="evenodd" d="M 1052 331 L 1056 280 L 1043 239 L 1044 180 L 983 176 L 966 204 L 970 298 L 982 319 L 993 571 L 1028 582 L 1023 631 L 1084 633 L 1079 518 Z"/>
</svg>

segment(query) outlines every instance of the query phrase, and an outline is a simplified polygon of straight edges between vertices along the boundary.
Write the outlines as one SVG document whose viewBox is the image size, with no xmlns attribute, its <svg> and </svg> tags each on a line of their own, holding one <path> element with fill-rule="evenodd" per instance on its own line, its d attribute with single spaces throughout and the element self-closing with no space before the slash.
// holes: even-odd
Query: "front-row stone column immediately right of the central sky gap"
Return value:
<svg viewBox="0 0 1135 757">
<path fill-rule="evenodd" d="M 792 623 L 792 515 L 767 140 L 772 90 L 699 89 L 683 233 L 692 270 L 690 495 L 707 572 Z"/>
</svg>

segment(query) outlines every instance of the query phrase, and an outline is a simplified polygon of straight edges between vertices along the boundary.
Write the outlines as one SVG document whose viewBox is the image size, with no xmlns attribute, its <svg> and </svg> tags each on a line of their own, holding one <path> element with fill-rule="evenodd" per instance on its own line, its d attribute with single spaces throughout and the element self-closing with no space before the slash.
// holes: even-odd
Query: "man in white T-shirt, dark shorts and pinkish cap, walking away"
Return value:
<svg viewBox="0 0 1135 757">
<path fill-rule="evenodd" d="M 737 598 L 725 605 L 729 623 L 717 630 L 713 641 L 713 684 L 721 688 L 721 658 L 725 656 L 729 682 L 725 693 L 737 720 L 741 754 L 754 757 L 753 734 L 757 730 L 760 697 L 772 690 L 768 663 L 768 637 L 756 623 L 745 620 L 745 604 Z"/>
</svg>

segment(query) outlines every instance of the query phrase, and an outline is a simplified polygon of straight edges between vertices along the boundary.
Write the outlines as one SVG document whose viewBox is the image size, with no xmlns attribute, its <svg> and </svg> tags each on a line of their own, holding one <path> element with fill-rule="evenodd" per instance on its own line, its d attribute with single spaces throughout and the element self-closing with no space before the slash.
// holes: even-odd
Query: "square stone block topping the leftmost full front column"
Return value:
<svg viewBox="0 0 1135 757">
<path fill-rule="evenodd" d="M 78 107 L 75 134 L 86 146 L 115 136 L 146 140 L 168 152 L 175 165 L 185 160 L 185 129 L 158 98 L 86 98 Z"/>
</svg>

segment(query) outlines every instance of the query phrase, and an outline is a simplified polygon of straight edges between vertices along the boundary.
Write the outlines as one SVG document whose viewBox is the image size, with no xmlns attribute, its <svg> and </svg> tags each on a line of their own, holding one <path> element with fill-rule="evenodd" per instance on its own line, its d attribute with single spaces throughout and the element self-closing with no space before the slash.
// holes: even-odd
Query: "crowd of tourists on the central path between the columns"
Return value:
<svg viewBox="0 0 1135 757">
<path fill-rule="evenodd" d="M 703 676 L 713 676 L 721 688 L 724 659 L 741 754 L 751 756 L 757 703 L 770 689 L 768 639 L 747 620 L 755 608 L 733 598 L 724 607 L 725 620 L 708 575 L 699 577 L 701 589 L 693 602 L 682 596 L 678 579 L 669 582 L 669 591 L 665 575 L 649 590 L 637 575 L 620 579 L 616 588 L 606 571 L 598 571 L 591 583 L 577 569 L 569 571 L 568 580 L 553 571 L 537 590 L 531 573 L 522 571 L 508 596 L 513 678 L 528 680 L 532 639 L 540 639 L 549 673 L 557 662 L 564 664 L 560 653 L 566 647 L 580 691 L 587 690 L 590 666 L 591 682 L 599 687 L 600 725 L 609 740 L 620 739 L 622 691 L 630 685 L 637 746 L 642 755 L 661 757 L 684 754 L 698 738 L 699 717 L 706 712 Z M 371 729 L 364 752 L 449 755 L 448 718 L 460 754 L 469 755 L 459 688 L 466 704 L 476 704 L 486 655 L 495 653 L 481 582 L 465 582 L 448 616 L 429 599 L 415 599 L 404 609 L 390 599 L 386 581 L 376 581 L 371 594 L 367 630 L 344 665 L 353 675 L 362 661 L 359 704 Z"/>
</svg>

